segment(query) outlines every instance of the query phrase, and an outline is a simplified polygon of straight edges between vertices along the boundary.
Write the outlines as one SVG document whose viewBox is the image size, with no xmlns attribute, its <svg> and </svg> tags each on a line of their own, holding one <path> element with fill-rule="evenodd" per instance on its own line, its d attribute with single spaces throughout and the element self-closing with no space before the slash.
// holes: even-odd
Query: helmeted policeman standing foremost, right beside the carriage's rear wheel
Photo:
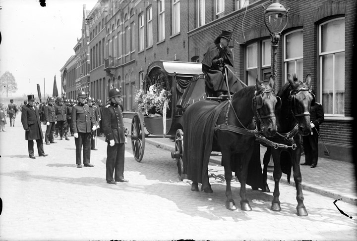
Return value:
<svg viewBox="0 0 357 241">
<path fill-rule="evenodd" d="M 103 111 L 103 131 L 108 143 L 106 180 L 108 184 L 127 183 L 128 180 L 124 179 L 126 133 L 121 108 L 119 107 L 121 103 L 120 91 L 117 88 L 111 89 L 109 99 L 110 104 Z"/>
</svg>

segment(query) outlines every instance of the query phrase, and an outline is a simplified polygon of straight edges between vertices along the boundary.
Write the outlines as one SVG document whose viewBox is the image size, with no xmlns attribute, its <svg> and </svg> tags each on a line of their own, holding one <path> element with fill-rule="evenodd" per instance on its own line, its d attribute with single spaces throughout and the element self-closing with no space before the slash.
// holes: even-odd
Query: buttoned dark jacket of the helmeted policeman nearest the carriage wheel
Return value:
<svg viewBox="0 0 357 241">
<path fill-rule="evenodd" d="M 115 144 L 125 142 L 125 128 L 120 106 L 111 102 L 103 110 L 103 131 L 106 141 L 109 143 L 114 140 Z"/>
</svg>

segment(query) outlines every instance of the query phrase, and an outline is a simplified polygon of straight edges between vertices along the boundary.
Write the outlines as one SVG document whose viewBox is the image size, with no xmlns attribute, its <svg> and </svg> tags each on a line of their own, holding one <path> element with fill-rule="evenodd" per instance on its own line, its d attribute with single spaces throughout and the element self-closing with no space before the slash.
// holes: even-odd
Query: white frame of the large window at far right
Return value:
<svg viewBox="0 0 357 241">
<path fill-rule="evenodd" d="M 316 94 L 319 94 L 319 99 L 320 101 L 322 102 L 322 83 L 323 83 L 323 69 L 322 69 L 322 66 L 323 66 L 323 62 L 322 62 L 322 59 L 323 59 L 323 56 L 325 55 L 328 55 L 328 54 L 333 54 L 333 60 L 332 60 L 332 113 L 324 113 L 325 116 L 331 116 L 331 117 L 345 117 L 345 114 L 334 114 L 336 112 L 336 105 L 335 105 L 335 99 L 336 99 L 336 95 L 335 95 L 335 69 L 336 69 L 336 60 L 335 60 L 335 56 L 336 56 L 336 53 L 341 53 L 341 52 L 345 52 L 345 48 L 341 48 L 341 49 L 335 49 L 333 51 L 327 51 L 327 52 L 322 52 L 322 44 L 321 44 L 321 40 L 322 40 L 322 35 L 321 35 L 321 27 L 327 23 L 330 23 L 330 22 L 333 22 L 333 21 L 337 21 L 337 20 L 345 20 L 345 32 L 346 32 L 346 18 L 345 17 L 339 17 L 339 18 L 334 18 L 334 19 L 331 19 L 331 20 L 328 20 L 326 22 L 323 22 L 321 23 L 319 26 L 318 26 L 318 31 L 319 31 L 319 38 L 318 38 L 318 46 L 319 46 L 319 74 L 320 74 L 320 83 L 319 83 L 319 92 L 316 93 Z M 345 33 L 344 33 L 345 34 Z M 346 40 L 345 40 L 346 41 Z M 344 43 L 344 46 L 345 46 L 345 43 Z M 345 52 L 346 54 L 346 52 Z M 346 55 L 345 55 L 345 58 L 346 58 Z M 345 66 L 346 66 L 346 63 L 345 63 Z M 346 77 L 345 77 L 346 78 Z M 344 91 L 346 92 L 346 89 L 344 89 Z M 344 92 L 344 93 L 345 93 Z M 344 104 L 345 106 L 345 104 Z M 344 111 L 345 113 L 345 111 Z"/>
</svg>

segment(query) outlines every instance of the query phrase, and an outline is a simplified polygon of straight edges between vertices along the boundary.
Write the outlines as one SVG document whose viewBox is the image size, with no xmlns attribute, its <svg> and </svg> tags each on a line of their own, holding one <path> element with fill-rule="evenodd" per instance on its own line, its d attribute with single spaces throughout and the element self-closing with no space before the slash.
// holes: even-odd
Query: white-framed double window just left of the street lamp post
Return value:
<svg viewBox="0 0 357 241">
<path fill-rule="evenodd" d="M 270 40 L 261 40 L 246 47 L 247 85 L 255 85 L 255 80 L 268 80 L 271 75 Z"/>
</svg>

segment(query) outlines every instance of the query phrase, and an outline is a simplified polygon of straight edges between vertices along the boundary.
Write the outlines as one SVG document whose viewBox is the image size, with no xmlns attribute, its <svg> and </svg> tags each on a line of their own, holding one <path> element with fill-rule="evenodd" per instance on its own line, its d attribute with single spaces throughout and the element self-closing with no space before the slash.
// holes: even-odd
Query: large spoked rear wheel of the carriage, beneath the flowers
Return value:
<svg viewBox="0 0 357 241">
<path fill-rule="evenodd" d="M 131 120 L 131 148 L 135 160 L 140 162 L 144 156 L 145 131 L 143 119 L 138 113 Z"/>
</svg>

